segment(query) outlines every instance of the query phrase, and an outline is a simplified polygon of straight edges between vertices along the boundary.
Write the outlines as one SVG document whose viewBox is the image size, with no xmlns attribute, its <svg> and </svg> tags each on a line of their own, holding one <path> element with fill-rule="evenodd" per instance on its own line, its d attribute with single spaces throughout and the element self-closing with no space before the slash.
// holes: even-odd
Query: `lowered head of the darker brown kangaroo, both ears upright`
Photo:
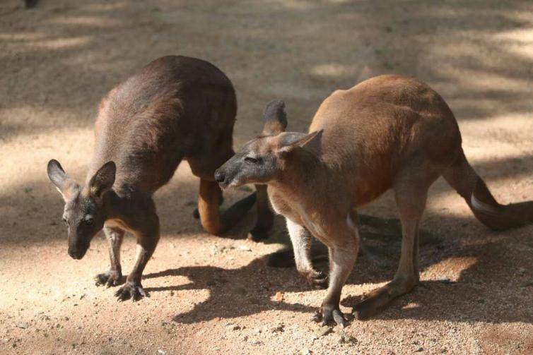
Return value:
<svg viewBox="0 0 533 355">
<path fill-rule="evenodd" d="M 69 255 L 81 259 L 107 218 L 103 195 L 115 183 L 115 163 L 105 163 L 87 186 L 80 186 L 69 179 L 57 160 L 48 162 L 47 171 L 50 181 L 65 201 L 63 221 L 69 229 Z"/>
</svg>

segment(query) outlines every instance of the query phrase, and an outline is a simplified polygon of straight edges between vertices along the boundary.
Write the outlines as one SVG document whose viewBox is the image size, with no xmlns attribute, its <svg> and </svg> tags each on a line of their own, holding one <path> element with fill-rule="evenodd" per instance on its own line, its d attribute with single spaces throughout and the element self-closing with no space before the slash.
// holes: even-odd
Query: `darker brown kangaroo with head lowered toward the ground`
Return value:
<svg viewBox="0 0 533 355">
<path fill-rule="evenodd" d="M 57 160 L 49 179 L 64 198 L 69 255 L 81 259 L 101 229 L 109 241 L 110 270 L 97 285 L 123 282 L 120 246 L 125 231 L 136 236 L 133 270 L 115 296 L 136 301 L 146 292 L 141 275 L 159 240 L 159 219 L 152 195 L 167 183 L 182 160 L 200 178 L 198 212 L 211 234 L 221 234 L 252 207 L 256 193 L 230 207 L 218 208 L 222 191 L 216 167 L 233 154 L 235 90 L 216 66 L 185 56 L 164 56 L 112 89 L 100 103 L 95 151 L 86 183 L 69 179 Z M 257 186 L 257 223 L 250 232 L 266 238 L 273 222 L 266 186 Z"/>
</svg>

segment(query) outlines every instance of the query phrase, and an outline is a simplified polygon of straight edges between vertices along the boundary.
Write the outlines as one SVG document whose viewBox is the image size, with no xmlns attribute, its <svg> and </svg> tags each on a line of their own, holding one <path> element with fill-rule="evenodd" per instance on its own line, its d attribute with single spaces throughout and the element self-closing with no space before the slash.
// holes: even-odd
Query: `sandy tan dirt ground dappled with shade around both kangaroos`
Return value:
<svg viewBox="0 0 533 355">
<path fill-rule="evenodd" d="M 421 285 L 344 331 L 310 321 L 324 291 L 266 265 L 288 243 L 245 240 L 254 213 L 210 236 L 192 218 L 186 163 L 156 194 L 162 239 L 145 270 L 148 299 L 119 303 L 93 276 L 95 237 L 66 253 L 62 200 L 45 167 L 83 180 L 100 98 L 165 54 L 209 60 L 233 80 L 235 145 L 286 100 L 305 131 L 320 102 L 381 73 L 429 83 L 459 121 L 464 150 L 502 203 L 533 198 L 533 4 L 530 1 L 69 1 L 0 4 L 1 354 L 533 354 L 533 227 L 489 231 L 440 179 L 423 219 Z M 230 191 L 227 202 L 245 195 Z M 394 217 L 389 193 L 365 214 Z M 394 275 L 399 237 L 365 229 L 344 287 L 346 313 Z M 393 233 L 394 234 L 394 233 Z M 134 261 L 123 248 L 123 270 Z M 321 265 L 325 267 L 324 264 Z"/>
</svg>

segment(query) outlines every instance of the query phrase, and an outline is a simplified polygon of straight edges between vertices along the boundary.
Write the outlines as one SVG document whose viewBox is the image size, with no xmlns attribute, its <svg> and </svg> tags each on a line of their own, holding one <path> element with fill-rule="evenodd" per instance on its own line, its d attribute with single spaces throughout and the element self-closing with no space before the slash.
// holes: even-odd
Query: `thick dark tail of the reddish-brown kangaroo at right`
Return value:
<svg viewBox="0 0 533 355">
<path fill-rule="evenodd" d="M 464 198 L 474 216 L 488 228 L 502 231 L 533 223 L 533 201 L 500 205 L 461 151 L 457 160 L 443 174 Z"/>
</svg>

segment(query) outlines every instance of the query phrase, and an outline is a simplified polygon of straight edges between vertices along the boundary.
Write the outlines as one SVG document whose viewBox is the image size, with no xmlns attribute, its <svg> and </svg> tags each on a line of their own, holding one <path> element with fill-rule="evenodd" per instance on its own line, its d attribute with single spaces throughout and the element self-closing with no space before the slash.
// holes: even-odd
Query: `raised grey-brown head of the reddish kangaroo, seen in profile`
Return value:
<svg viewBox="0 0 533 355">
<path fill-rule="evenodd" d="M 307 149 L 322 131 L 309 134 L 285 132 L 287 115 L 285 103 L 272 101 L 264 109 L 262 133 L 241 148 L 215 172 L 215 180 L 222 188 L 246 183 L 269 183 L 280 179 L 283 172 L 298 159 L 314 154 Z"/>
</svg>

